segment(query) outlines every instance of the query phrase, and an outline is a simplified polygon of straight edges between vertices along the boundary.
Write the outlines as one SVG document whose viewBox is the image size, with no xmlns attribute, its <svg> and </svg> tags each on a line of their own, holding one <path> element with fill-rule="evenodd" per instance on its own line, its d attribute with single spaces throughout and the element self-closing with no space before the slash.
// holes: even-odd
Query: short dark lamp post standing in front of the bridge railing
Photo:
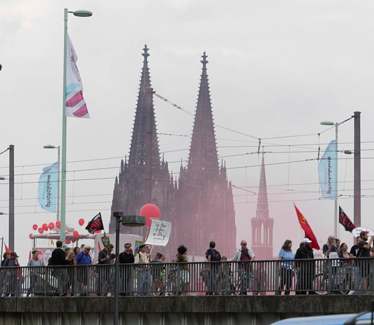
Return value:
<svg viewBox="0 0 374 325">
<path fill-rule="evenodd" d="M 118 325 L 119 320 L 119 227 L 123 225 L 129 227 L 141 227 L 145 224 L 145 216 L 123 215 L 123 212 L 113 212 L 115 217 L 115 261 L 114 261 L 114 325 Z M 122 279 L 123 280 L 123 279 Z"/>
</svg>

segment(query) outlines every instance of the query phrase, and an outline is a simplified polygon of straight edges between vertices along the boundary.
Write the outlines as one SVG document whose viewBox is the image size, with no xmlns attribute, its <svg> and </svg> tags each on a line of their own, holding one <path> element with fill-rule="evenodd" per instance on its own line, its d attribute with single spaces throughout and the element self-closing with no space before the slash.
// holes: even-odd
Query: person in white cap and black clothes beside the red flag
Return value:
<svg viewBox="0 0 374 325">
<path fill-rule="evenodd" d="M 311 240 L 304 238 L 300 247 L 297 249 L 295 259 L 314 259 L 313 249 L 309 246 Z M 313 280 L 315 276 L 315 267 L 313 261 L 295 261 L 297 267 L 296 295 L 314 295 Z"/>
</svg>

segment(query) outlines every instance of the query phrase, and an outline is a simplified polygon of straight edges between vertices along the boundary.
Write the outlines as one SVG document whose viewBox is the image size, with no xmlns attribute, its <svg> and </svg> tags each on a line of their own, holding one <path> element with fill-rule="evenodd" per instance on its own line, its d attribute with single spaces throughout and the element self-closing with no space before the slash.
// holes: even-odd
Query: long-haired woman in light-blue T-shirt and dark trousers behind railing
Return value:
<svg viewBox="0 0 374 325">
<path fill-rule="evenodd" d="M 282 260 L 281 262 L 281 280 L 279 281 L 278 291 L 276 291 L 275 295 L 281 295 L 281 291 L 286 286 L 285 295 L 290 294 L 291 286 L 292 286 L 292 278 L 294 276 L 294 271 L 292 268 L 292 260 L 294 259 L 294 254 L 291 250 L 292 248 L 292 241 L 287 239 L 281 250 L 278 254 L 278 259 Z"/>
</svg>

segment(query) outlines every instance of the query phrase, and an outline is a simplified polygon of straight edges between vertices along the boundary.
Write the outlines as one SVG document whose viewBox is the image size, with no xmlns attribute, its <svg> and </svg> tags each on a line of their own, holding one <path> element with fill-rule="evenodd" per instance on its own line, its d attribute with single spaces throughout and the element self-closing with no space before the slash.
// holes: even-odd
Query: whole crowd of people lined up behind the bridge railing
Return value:
<svg viewBox="0 0 374 325">
<path fill-rule="evenodd" d="M 282 291 L 285 295 L 289 295 L 292 289 L 295 290 L 296 295 L 315 294 L 315 289 L 319 289 L 316 282 L 319 275 L 316 272 L 321 272 L 318 278 L 321 283 L 331 282 L 329 289 L 332 294 L 341 292 L 341 281 L 350 281 L 353 284 L 352 294 L 367 292 L 370 282 L 368 278 L 372 272 L 370 263 L 360 263 L 359 259 L 354 258 L 373 256 L 374 248 L 371 248 L 373 240 L 374 237 L 371 237 L 368 241 L 367 233 L 361 232 L 356 238 L 356 244 L 349 251 L 347 243 L 340 243 L 334 236 L 329 236 L 322 248 L 323 255 L 329 262 L 321 263 L 320 270 L 313 261 L 314 253 L 308 238 L 301 241 L 295 253 L 292 251 L 292 241 L 286 240 L 278 254 L 279 263 L 275 264 L 278 270 L 275 295 L 281 295 Z M 54 285 L 56 295 L 82 296 L 87 295 L 87 292 L 92 294 L 92 290 L 88 287 L 95 287 L 97 296 L 113 293 L 114 268 L 106 267 L 115 262 L 116 255 L 112 252 L 113 248 L 114 246 L 110 244 L 99 252 L 98 261 L 93 269 L 88 268 L 93 264 L 89 245 L 75 247 L 71 251 L 68 247 L 63 249 L 63 243 L 57 241 L 56 248 L 48 260 L 48 266 L 52 267 L 48 270 L 51 270 L 50 274 L 55 279 L 51 286 Z M 27 273 L 27 292 L 24 292 L 25 284 L 22 286 L 23 289 L 21 288 L 25 276 L 21 269 L 17 268 L 20 266 L 17 253 L 6 252 L 3 257 L 2 267 L 16 267 L 3 269 L 0 272 L 3 297 L 15 296 L 17 293 L 25 293 L 28 297 L 39 292 L 41 285 L 44 286 L 44 291 L 46 290 L 43 281 L 43 275 L 46 275 L 43 271 L 45 265 L 39 258 L 37 250 L 32 252 L 32 257 L 27 263 L 27 267 L 30 267 Z M 260 291 L 267 290 L 266 285 L 265 287 L 263 285 L 264 278 L 267 276 L 264 269 L 260 264 L 247 263 L 255 261 L 255 253 L 247 247 L 245 240 L 240 242 L 240 248 L 231 259 L 238 263 L 214 263 L 229 260 L 226 256 L 221 256 L 214 241 L 209 242 L 205 258 L 208 263 L 199 264 L 199 268 L 193 270 L 194 266 L 188 264 L 188 249 L 181 245 L 171 261 L 173 263 L 166 266 L 166 256 L 160 252 L 155 252 L 151 256 L 149 245 L 141 244 L 134 254 L 132 244 L 126 243 L 124 250 L 118 255 L 118 262 L 121 265 L 120 295 L 134 296 L 136 293 L 137 296 L 150 296 L 155 293 L 165 294 L 167 291 L 183 295 L 189 291 L 191 278 L 196 281 L 197 277 L 204 285 L 206 295 L 236 293 L 247 295 L 248 291 L 257 295 Z M 350 270 L 350 272 L 345 271 L 343 278 L 342 269 Z M 95 280 L 92 280 L 92 272 L 95 272 Z M 351 288 L 352 285 L 347 283 L 347 287 Z"/>
</svg>

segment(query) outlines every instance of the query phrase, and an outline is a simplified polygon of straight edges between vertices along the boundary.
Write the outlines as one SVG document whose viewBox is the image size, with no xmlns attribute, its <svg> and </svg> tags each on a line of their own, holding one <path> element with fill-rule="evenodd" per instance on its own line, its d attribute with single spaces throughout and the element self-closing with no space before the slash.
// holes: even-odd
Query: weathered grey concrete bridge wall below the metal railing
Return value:
<svg viewBox="0 0 374 325">
<path fill-rule="evenodd" d="M 369 311 L 370 296 L 121 297 L 120 324 L 268 325 L 297 316 Z M 1 298 L 0 325 L 107 325 L 112 297 Z"/>
</svg>

